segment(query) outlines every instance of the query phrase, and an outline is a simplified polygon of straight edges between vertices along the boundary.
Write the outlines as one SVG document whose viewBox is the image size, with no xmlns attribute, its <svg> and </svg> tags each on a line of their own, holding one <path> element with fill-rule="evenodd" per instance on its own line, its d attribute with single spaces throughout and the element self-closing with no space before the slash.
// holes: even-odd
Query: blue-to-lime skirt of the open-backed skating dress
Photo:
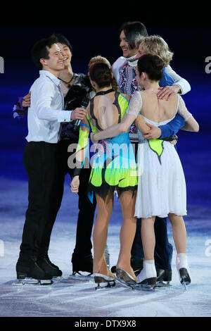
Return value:
<svg viewBox="0 0 211 331">
<path fill-rule="evenodd" d="M 98 142 L 91 158 L 89 190 L 106 199 L 109 192 L 117 191 L 118 196 L 128 190 L 135 192 L 137 184 L 136 160 L 129 133 Z"/>
</svg>

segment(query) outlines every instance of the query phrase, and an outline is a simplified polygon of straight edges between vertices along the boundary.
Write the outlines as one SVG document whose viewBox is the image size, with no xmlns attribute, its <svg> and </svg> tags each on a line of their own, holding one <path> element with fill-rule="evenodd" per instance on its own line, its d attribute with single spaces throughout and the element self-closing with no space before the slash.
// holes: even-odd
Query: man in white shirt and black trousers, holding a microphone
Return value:
<svg viewBox="0 0 211 331">
<path fill-rule="evenodd" d="M 17 277 L 24 280 L 51 280 L 62 275 L 48 256 L 39 260 L 43 241 L 50 241 L 58 211 L 58 141 L 60 123 L 82 120 L 84 108 L 64 110 L 58 73 L 64 68 L 63 54 L 56 39 L 41 39 L 32 47 L 32 60 L 40 69 L 32 85 L 31 106 L 28 109 L 27 145 L 23 162 L 29 181 L 29 204 L 26 211 L 20 256 L 16 264 Z M 48 238 L 44 236 L 48 236 Z"/>
</svg>

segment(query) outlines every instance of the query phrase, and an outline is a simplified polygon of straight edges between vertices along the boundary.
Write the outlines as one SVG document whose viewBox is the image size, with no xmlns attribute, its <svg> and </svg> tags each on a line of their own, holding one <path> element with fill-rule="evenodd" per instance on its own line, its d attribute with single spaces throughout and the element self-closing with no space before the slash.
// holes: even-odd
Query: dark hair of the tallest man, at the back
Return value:
<svg viewBox="0 0 211 331">
<path fill-rule="evenodd" d="M 124 35 L 127 38 L 127 42 L 131 49 L 136 48 L 135 41 L 137 37 L 148 37 L 146 26 L 139 21 L 123 23 L 120 27 L 120 33 L 122 30 L 124 31 Z"/>
</svg>

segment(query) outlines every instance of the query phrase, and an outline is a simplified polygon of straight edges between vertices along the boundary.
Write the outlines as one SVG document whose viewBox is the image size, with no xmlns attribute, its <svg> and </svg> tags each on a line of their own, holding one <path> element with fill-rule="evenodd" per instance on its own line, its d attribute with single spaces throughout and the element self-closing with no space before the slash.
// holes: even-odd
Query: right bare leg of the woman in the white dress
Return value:
<svg viewBox="0 0 211 331">
<path fill-rule="evenodd" d="M 182 216 L 169 213 L 177 254 L 186 253 L 186 226 Z"/>
</svg>

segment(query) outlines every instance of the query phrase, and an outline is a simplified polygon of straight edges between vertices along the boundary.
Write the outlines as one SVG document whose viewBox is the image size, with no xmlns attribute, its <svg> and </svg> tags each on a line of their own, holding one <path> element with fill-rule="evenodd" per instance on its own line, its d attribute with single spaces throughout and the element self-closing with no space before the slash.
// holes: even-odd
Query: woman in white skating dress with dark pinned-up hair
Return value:
<svg viewBox="0 0 211 331">
<path fill-rule="evenodd" d="M 141 56 L 136 67 L 136 79 L 144 91 L 136 92 L 132 96 L 127 113 L 120 124 L 108 127 L 91 137 L 93 142 L 114 137 L 120 132 L 127 131 L 134 120 L 139 128 L 139 184 L 135 216 L 141 218 L 145 260 L 137 278 L 139 284 L 153 287 L 157 275 L 154 261 L 155 216 L 170 218 L 177 249 L 179 279 L 184 284 L 191 282 L 186 258 L 186 227 L 182 218 L 186 215 L 186 183 L 174 145 L 162 139 L 143 139 L 141 132 L 148 132 L 147 123 L 159 126 L 170 122 L 177 112 L 185 119 L 183 130 L 198 132 L 199 128 L 196 120 L 187 111 L 181 96 L 174 94 L 168 101 L 158 99 L 158 82 L 162 77 L 163 65 L 159 56 Z"/>
</svg>

